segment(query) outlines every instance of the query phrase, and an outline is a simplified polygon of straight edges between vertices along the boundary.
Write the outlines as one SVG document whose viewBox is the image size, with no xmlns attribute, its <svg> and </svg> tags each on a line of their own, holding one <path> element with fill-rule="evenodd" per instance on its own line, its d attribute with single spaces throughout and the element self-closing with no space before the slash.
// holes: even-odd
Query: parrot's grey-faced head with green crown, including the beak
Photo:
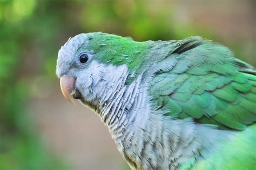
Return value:
<svg viewBox="0 0 256 170">
<path fill-rule="evenodd" d="M 100 102 L 119 79 L 130 74 L 141 43 L 107 33 L 81 33 L 58 52 L 56 74 L 64 97 L 85 104 Z M 138 63 L 138 62 L 135 62 Z M 129 71 L 130 70 L 130 71 Z"/>
</svg>

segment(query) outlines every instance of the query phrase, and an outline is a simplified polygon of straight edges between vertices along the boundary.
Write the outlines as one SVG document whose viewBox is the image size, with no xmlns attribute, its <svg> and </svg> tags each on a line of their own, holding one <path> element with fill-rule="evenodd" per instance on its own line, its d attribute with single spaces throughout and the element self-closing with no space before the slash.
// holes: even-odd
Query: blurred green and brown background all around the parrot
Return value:
<svg viewBox="0 0 256 170">
<path fill-rule="evenodd" d="M 55 66 L 69 37 L 202 36 L 256 66 L 255 21 L 254 0 L 0 0 L 0 169 L 126 167 L 100 120 L 61 97 Z"/>
</svg>

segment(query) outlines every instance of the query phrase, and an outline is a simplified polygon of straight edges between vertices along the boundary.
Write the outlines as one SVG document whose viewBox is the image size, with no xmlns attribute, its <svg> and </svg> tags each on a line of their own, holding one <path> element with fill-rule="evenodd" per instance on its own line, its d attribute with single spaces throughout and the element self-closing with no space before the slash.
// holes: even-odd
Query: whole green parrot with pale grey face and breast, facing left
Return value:
<svg viewBox="0 0 256 170">
<path fill-rule="evenodd" d="M 56 74 L 131 169 L 256 169 L 256 70 L 220 43 L 80 33 Z"/>
</svg>

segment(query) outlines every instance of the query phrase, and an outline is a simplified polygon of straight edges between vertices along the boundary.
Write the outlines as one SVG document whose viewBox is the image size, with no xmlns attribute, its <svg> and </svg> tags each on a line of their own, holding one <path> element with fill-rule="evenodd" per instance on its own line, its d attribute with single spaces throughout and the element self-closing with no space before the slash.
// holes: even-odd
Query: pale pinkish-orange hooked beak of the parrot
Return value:
<svg viewBox="0 0 256 170">
<path fill-rule="evenodd" d="M 60 89 L 62 90 L 63 96 L 72 104 L 75 104 L 71 99 L 72 94 L 75 91 L 76 78 L 73 76 L 62 76 L 60 77 Z"/>
</svg>

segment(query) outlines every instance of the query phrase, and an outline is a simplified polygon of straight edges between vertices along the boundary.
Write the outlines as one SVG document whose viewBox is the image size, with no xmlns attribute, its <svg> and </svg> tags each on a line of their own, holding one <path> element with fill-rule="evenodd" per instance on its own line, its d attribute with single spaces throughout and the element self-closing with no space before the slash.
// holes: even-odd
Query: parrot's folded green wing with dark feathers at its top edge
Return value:
<svg viewBox="0 0 256 170">
<path fill-rule="evenodd" d="M 167 115 L 235 130 L 256 121 L 256 70 L 227 47 L 192 37 L 163 60 L 176 62 L 159 68 L 149 93 Z"/>
</svg>

